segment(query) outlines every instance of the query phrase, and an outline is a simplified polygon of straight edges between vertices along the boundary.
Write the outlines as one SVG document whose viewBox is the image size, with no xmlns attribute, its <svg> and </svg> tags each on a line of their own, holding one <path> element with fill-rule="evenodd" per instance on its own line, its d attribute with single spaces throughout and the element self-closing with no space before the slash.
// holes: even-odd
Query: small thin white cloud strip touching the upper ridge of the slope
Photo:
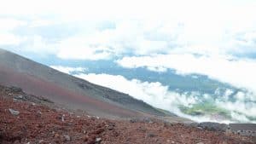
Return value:
<svg viewBox="0 0 256 144">
<path fill-rule="evenodd" d="M 72 72 L 86 72 L 87 69 L 84 67 L 69 67 L 69 66 L 50 66 L 51 68 L 54 68 L 55 70 L 58 70 L 60 72 L 64 72 L 67 74 L 72 74 Z"/>
</svg>

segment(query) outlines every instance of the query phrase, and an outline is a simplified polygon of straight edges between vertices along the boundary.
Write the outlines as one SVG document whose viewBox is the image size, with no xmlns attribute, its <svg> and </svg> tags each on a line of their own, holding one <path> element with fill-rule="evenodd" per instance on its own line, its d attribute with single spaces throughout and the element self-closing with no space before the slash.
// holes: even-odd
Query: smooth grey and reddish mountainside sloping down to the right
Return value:
<svg viewBox="0 0 256 144">
<path fill-rule="evenodd" d="M 0 84 L 20 87 L 26 93 L 43 96 L 69 109 L 105 118 L 167 116 L 130 95 L 91 84 L 3 49 L 0 49 Z"/>
</svg>

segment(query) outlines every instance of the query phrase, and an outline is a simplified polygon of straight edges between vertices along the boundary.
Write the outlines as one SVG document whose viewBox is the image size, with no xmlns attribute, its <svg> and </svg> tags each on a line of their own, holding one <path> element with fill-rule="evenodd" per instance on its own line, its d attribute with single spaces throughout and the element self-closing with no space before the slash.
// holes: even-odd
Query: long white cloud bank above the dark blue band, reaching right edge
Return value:
<svg viewBox="0 0 256 144">
<path fill-rule="evenodd" d="M 226 56 L 195 56 L 183 54 L 124 57 L 117 60 L 126 68 L 160 67 L 170 68 L 179 74 L 202 74 L 218 81 L 235 85 L 239 88 L 253 90 L 256 94 L 256 60 L 232 59 Z M 256 95 L 255 99 L 256 100 Z"/>
</svg>

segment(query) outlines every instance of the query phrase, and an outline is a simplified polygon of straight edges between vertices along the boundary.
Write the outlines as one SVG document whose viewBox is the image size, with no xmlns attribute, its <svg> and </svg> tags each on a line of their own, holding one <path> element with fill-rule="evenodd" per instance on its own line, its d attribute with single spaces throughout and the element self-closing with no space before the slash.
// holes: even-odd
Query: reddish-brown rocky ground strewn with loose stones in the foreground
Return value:
<svg viewBox="0 0 256 144">
<path fill-rule="evenodd" d="M 70 112 L 18 88 L 0 86 L 0 143 L 255 143 L 255 137 L 137 118 L 110 120 Z"/>
</svg>

